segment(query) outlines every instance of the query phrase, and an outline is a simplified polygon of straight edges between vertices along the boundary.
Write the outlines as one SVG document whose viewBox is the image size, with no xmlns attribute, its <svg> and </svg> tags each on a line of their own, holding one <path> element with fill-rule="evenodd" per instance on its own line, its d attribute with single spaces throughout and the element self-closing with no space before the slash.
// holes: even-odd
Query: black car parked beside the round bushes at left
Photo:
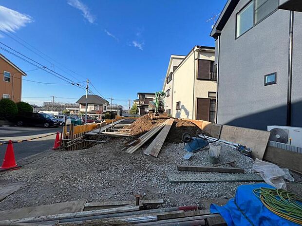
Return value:
<svg viewBox="0 0 302 226">
<path fill-rule="evenodd" d="M 61 126 L 63 121 L 53 118 L 49 114 L 45 113 L 24 113 L 15 117 L 14 121 L 17 126 L 43 126 L 44 128 L 49 128 L 51 126 L 58 127 Z"/>
</svg>

